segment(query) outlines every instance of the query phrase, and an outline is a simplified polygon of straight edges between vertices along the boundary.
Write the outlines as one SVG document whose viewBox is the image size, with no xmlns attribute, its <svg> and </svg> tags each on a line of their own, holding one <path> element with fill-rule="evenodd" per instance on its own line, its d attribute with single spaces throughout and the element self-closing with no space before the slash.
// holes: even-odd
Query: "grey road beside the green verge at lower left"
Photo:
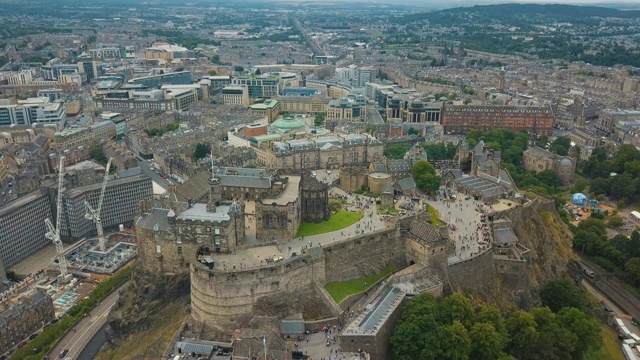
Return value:
<svg viewBox="0 0 640 360">
<path fill-rule="evenodd" d="M 91 315 L 86 316 L 76 324 L 74 327 L 75 331 L 69 331 L 58 342 L 58 344 L 49 351 L 49 357 L 56 359 L 63 349 L 69 349 L 69 353 L 65 359 L 78 359 L 78 355 L 82 353 L 82 350 L 87 343 L 91 341 L 98 330 L 100 330 L 100 328 L 102 328 L 102 326 L 107 322 L 107 316 L 109 316 L 111 308 L 116 304 L 116 301 L 118 301 L 120 291 L 127 285 L 128 282 L 122 285 L 120 289 L 114 291 L 103 299 L 99 305 L 94 307 L 90 312 Z"/>
</svg>

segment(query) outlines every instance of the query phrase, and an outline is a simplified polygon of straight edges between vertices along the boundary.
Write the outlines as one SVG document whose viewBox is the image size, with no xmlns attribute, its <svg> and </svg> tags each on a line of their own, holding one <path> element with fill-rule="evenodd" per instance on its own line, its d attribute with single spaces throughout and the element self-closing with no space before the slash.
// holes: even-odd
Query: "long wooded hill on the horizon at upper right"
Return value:
<svg viewBox="0 0 640 360">
<path fill-rule="evenodd" d="M 458 7 L 428 13 L 417 13 L 398 17 L 397 23 L 428 21 L 431 24 L 450 26 L 473 23 L 516 25 L 521 21 L 529 23 L 572 22 L 594 24 L 603 18 L 633 19 L 640 17 L 639 10 L 618 10 L 599 6 L 559 5 L 559 4 L 499 4 Z"/>
</svg>

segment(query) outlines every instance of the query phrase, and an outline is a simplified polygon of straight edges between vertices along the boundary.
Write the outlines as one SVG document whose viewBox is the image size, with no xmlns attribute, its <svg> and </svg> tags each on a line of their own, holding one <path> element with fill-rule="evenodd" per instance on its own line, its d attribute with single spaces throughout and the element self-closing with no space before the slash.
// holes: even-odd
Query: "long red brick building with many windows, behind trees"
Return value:
<svg viewBox="0 0 640 360">
<path fill-rule="evenodd" d="M 445 105 L 442 113 L 445 134 L 507 129 L 551 135 L 553 122 L 550 106 Z"/>
</svg>

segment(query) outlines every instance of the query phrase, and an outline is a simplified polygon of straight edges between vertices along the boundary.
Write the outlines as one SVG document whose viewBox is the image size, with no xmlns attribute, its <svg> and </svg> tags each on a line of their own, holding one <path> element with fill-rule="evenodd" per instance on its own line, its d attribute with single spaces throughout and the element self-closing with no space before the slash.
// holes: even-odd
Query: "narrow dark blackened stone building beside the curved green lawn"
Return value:
<svg viewBox="0 0 640 360">
<path fill-rule="evenodd" d="M 307 222 L 322 222 L 329 220 L 329 186 L 318 181 L 311 172 L 302 175 L 302 220 Z"/>
</svg>

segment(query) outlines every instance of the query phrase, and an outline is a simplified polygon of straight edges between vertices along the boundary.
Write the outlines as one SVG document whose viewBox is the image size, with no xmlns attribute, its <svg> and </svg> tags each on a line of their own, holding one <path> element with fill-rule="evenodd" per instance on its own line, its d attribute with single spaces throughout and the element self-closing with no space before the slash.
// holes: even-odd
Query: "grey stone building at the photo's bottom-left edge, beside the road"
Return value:
<svg viewBox="0 0 640 360">
<path fill-rule="evenodd" d="M 0 353 L 16 346 L 55 317 L 53 302 L 46 293 L 34 290 L 15 303 L 0 304 Z"/>
</svg>

